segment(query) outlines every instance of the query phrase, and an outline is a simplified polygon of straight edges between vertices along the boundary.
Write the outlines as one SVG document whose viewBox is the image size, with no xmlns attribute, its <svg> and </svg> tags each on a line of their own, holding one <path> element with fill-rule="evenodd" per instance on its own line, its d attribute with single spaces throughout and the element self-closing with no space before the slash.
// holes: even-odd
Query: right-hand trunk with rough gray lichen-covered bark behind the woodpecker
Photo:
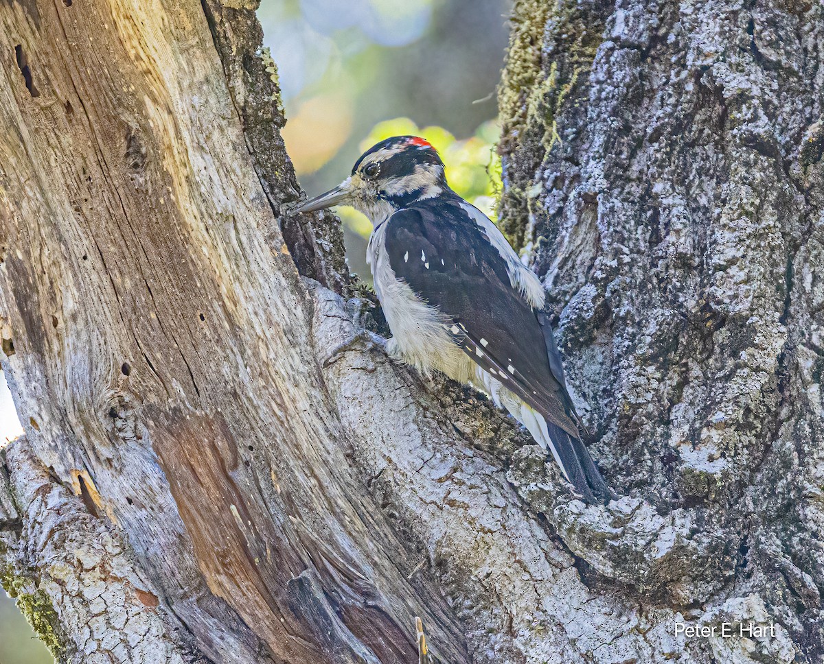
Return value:
<svg viewBox="0 0 824 664">
<path fill-rule="evenodd" d="M 510 477 L 642 623 L 778 625 L 685 657 L 819 662 L 822 5 L 515 14 L 504 218 L 550 293 L 593 453 L 633 498 L 604 519 L 559 510 L 529 467 Z M 671 648 L 645 638 L 641 661 Z"/>
</svg>

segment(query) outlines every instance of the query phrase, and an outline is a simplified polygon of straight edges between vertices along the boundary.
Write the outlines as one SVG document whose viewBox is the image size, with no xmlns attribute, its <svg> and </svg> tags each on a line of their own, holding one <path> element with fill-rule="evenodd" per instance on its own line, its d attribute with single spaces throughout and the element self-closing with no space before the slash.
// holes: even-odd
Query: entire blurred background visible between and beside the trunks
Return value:
<svg viewBox="0 0 824 664">
<path fill-rule="evenodd" d="M 283 131 L 303 188 L 332 188 L 373 143 L 426 137 L 452 188 L 494 217 L 495 87 L 511 0 L 262 0 L 264 42 L 278 63 Z M 337 210 L 347 258 L 368 281 L 372 226 Z M 21 433 L 0 374 L 0 446 Z M 14 602 L 0 591 L 0 664 L 47 664 Z"/>
</svg>

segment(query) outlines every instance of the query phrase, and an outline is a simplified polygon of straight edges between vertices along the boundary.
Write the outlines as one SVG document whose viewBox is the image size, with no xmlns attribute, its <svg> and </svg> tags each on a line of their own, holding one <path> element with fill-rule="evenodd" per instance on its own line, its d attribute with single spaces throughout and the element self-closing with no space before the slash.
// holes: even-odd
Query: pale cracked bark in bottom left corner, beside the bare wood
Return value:
<svg viewBox="0 0 824 664">
<path fill-rule="evenodd" d="M 16 496 L 21 517 L 16 524 L 0 517 L 3 584 L 56 658 L 204 662 L 158 610 L 160 591 L 114 524 L 55 482 L 25 438 L 3 462 L 9 474 L 0 472 L 0 495 Z"/>
</svg>

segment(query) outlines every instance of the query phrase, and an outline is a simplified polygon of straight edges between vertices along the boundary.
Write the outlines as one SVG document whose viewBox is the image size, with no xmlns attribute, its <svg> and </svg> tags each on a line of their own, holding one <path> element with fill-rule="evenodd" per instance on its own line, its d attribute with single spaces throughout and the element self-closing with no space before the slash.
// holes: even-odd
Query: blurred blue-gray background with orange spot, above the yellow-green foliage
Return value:
<svg viewBox="0 0 824 664">
<path fill-rule="evenodd" d="M 288 118 L 283 138 L 303 186 L 328 188 L 386 118 L 458 138 L 494 118 L 510 4 L 263 0 L 258 16 Z"/>
</svg>

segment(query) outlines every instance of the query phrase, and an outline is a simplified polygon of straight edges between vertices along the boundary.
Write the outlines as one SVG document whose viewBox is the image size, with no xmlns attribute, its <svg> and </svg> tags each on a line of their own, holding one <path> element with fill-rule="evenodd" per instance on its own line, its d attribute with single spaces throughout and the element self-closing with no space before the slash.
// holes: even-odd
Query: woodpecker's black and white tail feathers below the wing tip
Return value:
<svg viewBox="0 0 824 664">
<path fill-rule="evenodd" d="M 520 415 L 532 438 L 552 454 L 569 484 L 587 503 L 606 503 L 615 497 L 581 439 L 546 421 L 526 404 L 522 405 Z"/>
</svg>

